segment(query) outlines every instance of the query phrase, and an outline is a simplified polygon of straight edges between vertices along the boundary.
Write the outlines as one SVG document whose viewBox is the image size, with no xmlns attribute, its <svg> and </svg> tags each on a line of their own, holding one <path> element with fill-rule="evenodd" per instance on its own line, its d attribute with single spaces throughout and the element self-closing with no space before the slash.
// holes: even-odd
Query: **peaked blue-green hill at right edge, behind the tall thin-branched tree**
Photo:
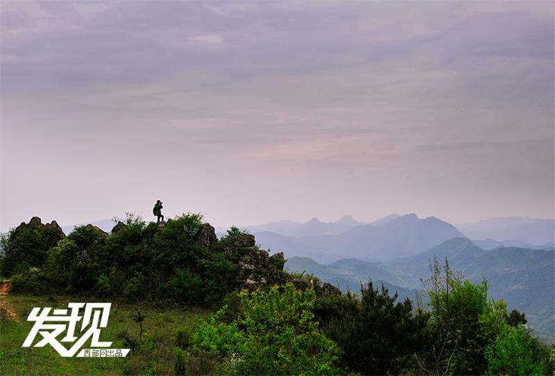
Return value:
<svg viewBox="0 0 555 376">
<path fill-rule="evenodd" d="M 473 282 L 486 278 L 490 296 L 525 312 L 545 341 L 555 341 L 555 251 L 518 247 L 486 251 L 467 238 L 456 238 L 387 265 L 414 281 L 430 275 L 428 260 L 434 256 L 440 262 L 447 257 L 452 269 Z"/>
</svg>

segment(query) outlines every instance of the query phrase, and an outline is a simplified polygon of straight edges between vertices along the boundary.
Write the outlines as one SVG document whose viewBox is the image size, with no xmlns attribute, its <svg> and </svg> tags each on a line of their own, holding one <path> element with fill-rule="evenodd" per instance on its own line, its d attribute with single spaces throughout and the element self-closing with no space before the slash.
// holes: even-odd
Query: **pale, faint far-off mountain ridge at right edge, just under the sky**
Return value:
<svg viewBox="0 0 555 376">
<path fill-rule="evenodd" d="M 477 240 L 518 240 L 527 244 L 547 244 L 555 240 L 555 220 L 502 217 L 457 224 L 456 228 L 468 238 Z"/>
</svg>

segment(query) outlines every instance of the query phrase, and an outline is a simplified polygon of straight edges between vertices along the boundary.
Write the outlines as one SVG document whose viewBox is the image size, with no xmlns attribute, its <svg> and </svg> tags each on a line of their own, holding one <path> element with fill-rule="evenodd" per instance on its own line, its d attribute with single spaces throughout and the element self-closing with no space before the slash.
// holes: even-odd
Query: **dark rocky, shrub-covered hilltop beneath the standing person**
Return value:
<svg viewBox="0 0 555 376">
<path fill-rule="evenodd" d="M 1 274 L 20 292 L 72 292 L 210 304 L 241 288 L 284 283 L 283 253 L 232 229 L 220 240 L 200 215 L 160 224 L 129 216 L 110 234 L 92 224 L 65 235 L 38 217 L 3 238 Z"/>
</svg>

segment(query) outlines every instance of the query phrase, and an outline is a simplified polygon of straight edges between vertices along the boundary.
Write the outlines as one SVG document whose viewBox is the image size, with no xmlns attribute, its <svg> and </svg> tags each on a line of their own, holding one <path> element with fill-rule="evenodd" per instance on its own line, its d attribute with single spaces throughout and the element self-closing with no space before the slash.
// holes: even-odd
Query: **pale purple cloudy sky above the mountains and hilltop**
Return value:
<svg viewBox="0 0 555 376">
<path fill-rule="evenodd" d="M 0 229 L 554 217 L 552 1 L 0 3 Z"/>
</svg>

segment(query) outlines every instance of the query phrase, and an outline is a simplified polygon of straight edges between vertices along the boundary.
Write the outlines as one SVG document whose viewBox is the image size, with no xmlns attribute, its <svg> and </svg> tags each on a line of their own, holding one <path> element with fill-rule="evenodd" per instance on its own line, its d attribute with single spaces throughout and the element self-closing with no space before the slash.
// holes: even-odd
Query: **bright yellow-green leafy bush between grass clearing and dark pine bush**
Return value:
<svg viewBox="0 0 555 376">
<path fill-rule="evenodd" d="M 330 375 L 338 370 L 336 344 L 318 331 L 312 309 L 316 294 L 288 283 L 268 292 L 241 292 L 237 320 L 221 322 L 225 308 L 199 325 L 191 340 L 194 354 L 212 354 L 241 375 Z"/>
</svg>

